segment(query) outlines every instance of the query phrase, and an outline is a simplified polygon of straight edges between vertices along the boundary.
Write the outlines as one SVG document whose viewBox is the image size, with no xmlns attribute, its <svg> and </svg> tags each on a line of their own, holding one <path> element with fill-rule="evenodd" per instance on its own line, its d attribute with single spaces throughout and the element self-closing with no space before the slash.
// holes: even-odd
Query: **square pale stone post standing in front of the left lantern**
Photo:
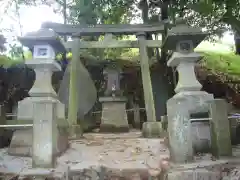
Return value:
<svg viewBox="0 0 240 180">
<path fill-rule="evenodd" d="M 54 167 L 56 156 L 68 147 L 68 134 L 65 134 L 65 141 L 58 142 L 57 103 L 54 98 L 42 98 L 34 102 L 33 167 Z M 59 145 L 64 148 L 59 149 Z"/>
</svg>

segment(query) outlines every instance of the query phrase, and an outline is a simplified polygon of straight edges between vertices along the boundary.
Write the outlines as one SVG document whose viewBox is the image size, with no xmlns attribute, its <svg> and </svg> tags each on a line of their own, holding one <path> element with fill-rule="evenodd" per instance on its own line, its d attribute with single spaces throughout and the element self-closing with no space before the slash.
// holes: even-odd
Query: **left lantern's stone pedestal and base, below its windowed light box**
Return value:
<svg viewBox="0 0 240 180">
<path fill-rule="evenodd" d="M 61 67 L 54 60 L 32 60 L 27 65 L 35 70 L 36 80 L 31 97 L 19 102 L 17 118 L 29 120 L 33 129 L 16 130 L 8 153 L 32 156 L 36 167 L 52 167 L 54 157 L 68 148 L 65 107 L 56 99 L 51 84 L 52 73 Z"/>
</svg>

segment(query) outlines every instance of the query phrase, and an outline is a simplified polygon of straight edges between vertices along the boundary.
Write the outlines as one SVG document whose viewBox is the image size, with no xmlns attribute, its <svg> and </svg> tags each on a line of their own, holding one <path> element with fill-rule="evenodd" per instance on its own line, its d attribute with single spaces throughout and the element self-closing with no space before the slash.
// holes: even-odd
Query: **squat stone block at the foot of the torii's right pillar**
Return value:
<svg viewBox="0 0 240 180">
<path fill-rule="evenodd" d="M 159 138 L 163 137 L 162 123 L 144 122 L 142 126 L 142 135 L 145 138 Z"/>
</svg>

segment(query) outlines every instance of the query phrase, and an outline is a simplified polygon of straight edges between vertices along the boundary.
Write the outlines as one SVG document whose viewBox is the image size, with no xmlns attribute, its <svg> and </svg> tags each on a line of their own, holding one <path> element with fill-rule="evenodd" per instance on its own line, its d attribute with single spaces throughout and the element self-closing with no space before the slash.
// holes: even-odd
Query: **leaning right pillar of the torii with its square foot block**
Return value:
<svg viewBox="0 0 240 180">
<path fill-rule="evenodd" d="M 144 101 L 147 114 L 147 122 L 143 123 L 142 134 L 146 138 L 160 137 L 162 134 L 162 124 L 156 121 L 156 112 L 152 92 L 152 81 L 149 70 L 149 57 L 146 46 L 146 33 L 138 33 L 139 58 L 142 72 L 142 82 L 144 91 Z"/>
</svg>

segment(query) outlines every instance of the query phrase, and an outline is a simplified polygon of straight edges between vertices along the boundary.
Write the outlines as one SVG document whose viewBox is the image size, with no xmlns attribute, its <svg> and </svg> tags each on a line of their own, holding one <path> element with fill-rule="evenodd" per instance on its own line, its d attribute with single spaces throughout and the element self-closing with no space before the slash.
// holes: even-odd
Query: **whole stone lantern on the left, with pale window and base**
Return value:
<svg viewBox="0 0 240 180">
<path fill-rule="evenodd" d="M 15 132 L 9 154 L 32 156 L 35 167 L 52 167 L 54 157 L 68 147 L 65 107 L 57 99 L 51 82 L 52 73 L 61 71 L 55 55 L 64 53 L 65 48 L 57 35 L 47 29 L 29 33 L 19 40 L 33 49 L 33 59 L 26 61 L 26 65 L 34 69 L 36 78 L 30 97 L 18 103 L 17 118 L 32 122 L 33 128 Z"/>
</svg>

